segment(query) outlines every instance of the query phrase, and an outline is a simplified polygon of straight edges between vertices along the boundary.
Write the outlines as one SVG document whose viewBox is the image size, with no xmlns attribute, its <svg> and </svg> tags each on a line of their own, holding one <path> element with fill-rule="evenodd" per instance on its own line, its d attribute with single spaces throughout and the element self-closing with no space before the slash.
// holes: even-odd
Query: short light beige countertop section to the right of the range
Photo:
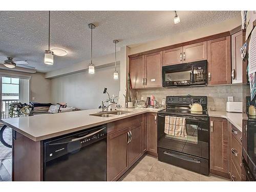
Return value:
<svg viewBox="0 0 256 192">
<path fill-rule="evenodd" d="M 242 113 L 229 113 L 225 111 L 208 111 L 210 117 L 222 117 L 227 119 L 230 123 L 239 129 L 242 132 L 242 120 L 243 114 Z"/>
</svg>

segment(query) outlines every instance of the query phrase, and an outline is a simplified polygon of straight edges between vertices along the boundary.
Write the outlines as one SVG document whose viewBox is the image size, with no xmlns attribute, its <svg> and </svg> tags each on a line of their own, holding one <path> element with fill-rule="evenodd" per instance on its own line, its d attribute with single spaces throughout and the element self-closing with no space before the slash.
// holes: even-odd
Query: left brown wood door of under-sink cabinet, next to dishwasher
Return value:
<svg viewBox="0 0 256 192">
<path fill-rule="evenodd" d="M 128 132 L 129 128 L 108 136 L 106 174 L 108 181 L 116 181 L 129 169 Z"/>
</svg>

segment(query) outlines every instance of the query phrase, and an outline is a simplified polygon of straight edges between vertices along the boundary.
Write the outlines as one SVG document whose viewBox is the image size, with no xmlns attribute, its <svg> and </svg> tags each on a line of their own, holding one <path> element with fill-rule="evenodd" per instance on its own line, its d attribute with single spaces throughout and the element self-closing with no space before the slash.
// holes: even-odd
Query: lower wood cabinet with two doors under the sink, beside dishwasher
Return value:
<svg viewBox="0 0 256 192">
<path fill-rule="evenodd" d="M 107 180 L 116 181 L 128 170 L 145 152 L 146 126 L 142 115 L 109 123 L 110 135 L 107 137 Z M 141 122 L 137 122 L 141 119 Z M 127 121 L 127 122 L 124 122 Z M 120 125 L 123 125 L 123 129 Z M 125 127 L 125 125 L 129 125 Z M 114 127 L 113 127 L 114 126 Z M 112 130 L 119 127 L 117 132 Z"/>
</svg>

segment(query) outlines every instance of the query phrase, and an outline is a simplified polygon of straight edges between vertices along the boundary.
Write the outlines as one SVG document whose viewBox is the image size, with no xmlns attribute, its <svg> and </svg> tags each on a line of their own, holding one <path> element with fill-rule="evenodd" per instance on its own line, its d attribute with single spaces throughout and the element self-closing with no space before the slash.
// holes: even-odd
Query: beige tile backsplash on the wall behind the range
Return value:
<svg viewBox="0 0 256 192">
<path fill-rule="evenodd" d="M 133 97 L 140 99 L 154 95 L 156 100 L 161 103 L 162 98 L 168 95 L 202 95 L 207 96 L 208 110 L 211 106 L 215 106 L 217 111 L 226 111 L 226 102 L 228 96 L 233 96 L 234 101 L 242 101 L 242 86 L 207 86 L 207 87 L 189 87 L 189 88 L 157 88 L 157 89 L 142 89 L 132 90 Z"/>
</svg>

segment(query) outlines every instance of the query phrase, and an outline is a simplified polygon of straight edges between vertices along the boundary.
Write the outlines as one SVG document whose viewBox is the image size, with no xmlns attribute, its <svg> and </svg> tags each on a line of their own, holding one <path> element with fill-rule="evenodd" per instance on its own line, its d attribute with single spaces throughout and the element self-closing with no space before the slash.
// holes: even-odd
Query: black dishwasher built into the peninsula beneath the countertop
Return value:
<svg viewBox="0 0 256 192">
<path fill-rule="evenodd" d="M 106 181 L 106 124 L 45 140 L 44 181 Z"/>
</svg>

